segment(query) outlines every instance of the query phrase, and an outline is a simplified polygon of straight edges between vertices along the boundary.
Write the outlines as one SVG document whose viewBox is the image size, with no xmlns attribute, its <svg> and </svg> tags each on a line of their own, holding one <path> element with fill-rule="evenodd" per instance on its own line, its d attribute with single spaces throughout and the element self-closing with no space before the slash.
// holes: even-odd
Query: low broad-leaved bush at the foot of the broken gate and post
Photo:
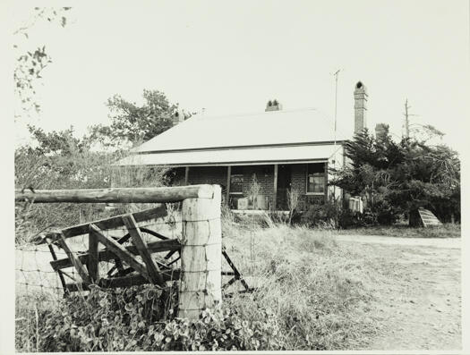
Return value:
<svg viewBox="0 0 470 355">
<path fill-rule="evenodd" d="M 227 307 L 202 311 L 195 321 L 177 318 L 175 289 L 152 285 L 126 290 L 93 288 L 69 296 L 39 317 L 38 351 L 278 350 L 280 332 L 270 309 L 246 320 Z M 36 334 L 31 331 L 30 334 Z M 34 343 L 36 339 L 32 340 Z M 17 350 L 24 350 L 18 342 Z"/>
</svg>

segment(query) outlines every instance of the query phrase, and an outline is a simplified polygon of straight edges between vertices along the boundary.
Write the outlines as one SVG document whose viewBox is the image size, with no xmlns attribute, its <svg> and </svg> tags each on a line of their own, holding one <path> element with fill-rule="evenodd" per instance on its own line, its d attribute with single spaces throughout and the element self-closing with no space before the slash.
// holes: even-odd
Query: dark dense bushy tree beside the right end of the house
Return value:
<svg viewBox="0 0 470 355">
<path fill-rule="evenodd" d="M 460 218 L 460 162 L 447 146 L 426 143 L 427 139 L 404 138 L 398 143 L 386 129 L 378 137 L 367 130 L 346 143 L 350 164 L 333 171 L 332 184 L 367 199 L 382 223 L 405 215 L 414 224 L 419 207 L 431 209 L 443 221 Z"/>
</svg>

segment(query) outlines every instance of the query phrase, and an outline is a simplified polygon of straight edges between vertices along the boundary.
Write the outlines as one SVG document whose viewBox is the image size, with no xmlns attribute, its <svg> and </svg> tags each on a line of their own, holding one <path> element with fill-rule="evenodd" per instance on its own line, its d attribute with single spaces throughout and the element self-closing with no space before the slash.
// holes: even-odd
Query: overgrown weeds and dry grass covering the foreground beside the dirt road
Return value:
<svg viewBox="0 0 470 355">
<path fill-rule="evenodd" d="M 17 305 L 17 351 L 342 350 L 367 342 L 373 282 L 363 255 L 328 230 L 223 221 L 227 252 L 255 292 L 239 294 L 235 283 L 232 297 L 192 322 L 175 317 L 176 285 L 35 300 Z"/>
</svg>

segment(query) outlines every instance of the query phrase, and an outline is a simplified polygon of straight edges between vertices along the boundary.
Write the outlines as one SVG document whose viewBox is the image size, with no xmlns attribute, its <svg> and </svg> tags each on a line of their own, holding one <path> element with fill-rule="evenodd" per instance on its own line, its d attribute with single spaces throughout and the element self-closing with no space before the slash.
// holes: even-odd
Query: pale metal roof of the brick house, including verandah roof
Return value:
<svg viewBox="0 0 470 355">
<path fill-rule="evenodd" d="M 336 139 L 348 139 L 337 132 Z M 119 165 L 271 164 L 328 159 L 333 123 L 314 108 L 192 116 L 143 143 Z M 337 147 L 338 148 L 338 147 Z"/>
</svg>

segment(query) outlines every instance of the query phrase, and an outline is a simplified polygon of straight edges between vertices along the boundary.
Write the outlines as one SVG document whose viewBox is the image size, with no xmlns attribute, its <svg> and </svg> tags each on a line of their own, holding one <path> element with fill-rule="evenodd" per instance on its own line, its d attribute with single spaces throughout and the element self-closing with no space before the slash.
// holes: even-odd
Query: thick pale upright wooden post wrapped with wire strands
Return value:
<svg viewBox="0 0 470 355">
<path fill-rule="evenodd" d="M 203 309 L 213 309 L 222 300 L 221 190 L 212 188 L 212 199 L 183 201 L 178 317 L 198 319 Z"/>
</svg>

